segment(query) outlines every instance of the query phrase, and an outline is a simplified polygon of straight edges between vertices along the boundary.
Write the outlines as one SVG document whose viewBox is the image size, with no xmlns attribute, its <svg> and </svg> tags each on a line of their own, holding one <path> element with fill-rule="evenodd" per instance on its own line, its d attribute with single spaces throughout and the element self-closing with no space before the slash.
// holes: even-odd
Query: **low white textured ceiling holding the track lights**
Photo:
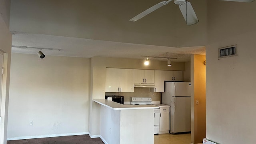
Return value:
<svg viewBox="0 0 256 144">
<path fill-rule="evenodd" d="M 116 58 L 144 58 L 141 56 L 146 55 L 173 57 L 177 58 L 173 61 L 188 62 L 190 61 L 190 54 L 205 55 L 204 46 L 173 48 L 167 46 L 130 44 L 103 40 L 91 40 L 84 38 L 51 36 L 45 34 L 30 34 L 23 32 L 12 32 L 12 45 L 28 46 L 35 48 L 53 48 L 54 50 L 42 50 L 46 57 L 47 55 L 54 55 L 84 58 L 91 58 L 92 56 Z M 38 49 L 34 48 L 12 47 L 12 52 L 14 53 L 36 54 L 38 51 Z M 166 54 L 167 52 L 168 54 Z"/>
</svg>

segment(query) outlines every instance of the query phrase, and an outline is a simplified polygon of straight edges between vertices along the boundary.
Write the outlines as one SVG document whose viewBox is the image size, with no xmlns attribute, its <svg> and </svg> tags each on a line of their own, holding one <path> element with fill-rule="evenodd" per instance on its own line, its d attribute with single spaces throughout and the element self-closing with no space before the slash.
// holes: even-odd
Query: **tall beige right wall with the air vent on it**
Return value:
<svg viewBox="0 0 256 144">
<path fill-rule="evenodd" d="M 256 2 L 208 1 L 206 138 L 254 144 L 256 109 Z M 238 56 L 218 59 L 218 48 L 237 44 Z"/>
</svg>

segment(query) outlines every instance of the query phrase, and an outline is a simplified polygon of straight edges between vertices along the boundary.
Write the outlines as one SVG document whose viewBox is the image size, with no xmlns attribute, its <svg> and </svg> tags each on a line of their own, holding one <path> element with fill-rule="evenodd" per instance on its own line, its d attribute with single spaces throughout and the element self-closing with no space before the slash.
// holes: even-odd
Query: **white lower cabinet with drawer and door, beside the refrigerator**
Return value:
<svg viewBox="0 0 256 144">
<path fill-rule="evenodd" d="M 169 133 L 170 130 L 170 107 L 160 107 L 159 134 Z"/>
</svg>

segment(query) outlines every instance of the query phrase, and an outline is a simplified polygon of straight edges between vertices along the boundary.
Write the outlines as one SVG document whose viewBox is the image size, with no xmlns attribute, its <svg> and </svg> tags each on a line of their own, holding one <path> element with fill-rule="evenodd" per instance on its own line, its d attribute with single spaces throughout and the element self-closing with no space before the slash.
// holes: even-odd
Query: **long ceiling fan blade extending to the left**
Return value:
<svg viewBox="0 0 256 144">
<path fill-rule="evenodd" d="M 154 10 L 157 10 L 158 8 L 161 8 L 162 6 L 168 4 L 170 1 L 172 1 L 172 0 L 159 2 L 158 4 L 148 8 L 144 12 L 138 14 L 137 16 L 134 16 L 129 21 L 136 22 L 137 20 L 139 20 L 139 19 L 143 18 L 144 16 L 148 15 L 150 12 L 153 12 Z"/>
</svg>

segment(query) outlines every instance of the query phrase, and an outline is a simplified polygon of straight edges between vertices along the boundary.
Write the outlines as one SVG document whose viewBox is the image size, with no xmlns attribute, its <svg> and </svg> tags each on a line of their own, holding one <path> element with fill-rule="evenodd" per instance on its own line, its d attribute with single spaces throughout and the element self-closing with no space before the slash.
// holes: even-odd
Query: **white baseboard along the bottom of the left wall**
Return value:
<svg viewBox="0 0 256 144">
<path fill-rule="evenodd" d="M 77 133 L 69 133 L 69 134 L 47 134 L 40 136 L 19 136 L 14 138 L 7 138 L 7 140 L 25 140 L 25 139 L 33 139 L 33 138 L 50 138 L 50 137 L 58 137 L 58 136 L 76 136 L 76 135 L 84 135 L 89 134 L 89 132 L 77 132 Z"/>
</svg>

